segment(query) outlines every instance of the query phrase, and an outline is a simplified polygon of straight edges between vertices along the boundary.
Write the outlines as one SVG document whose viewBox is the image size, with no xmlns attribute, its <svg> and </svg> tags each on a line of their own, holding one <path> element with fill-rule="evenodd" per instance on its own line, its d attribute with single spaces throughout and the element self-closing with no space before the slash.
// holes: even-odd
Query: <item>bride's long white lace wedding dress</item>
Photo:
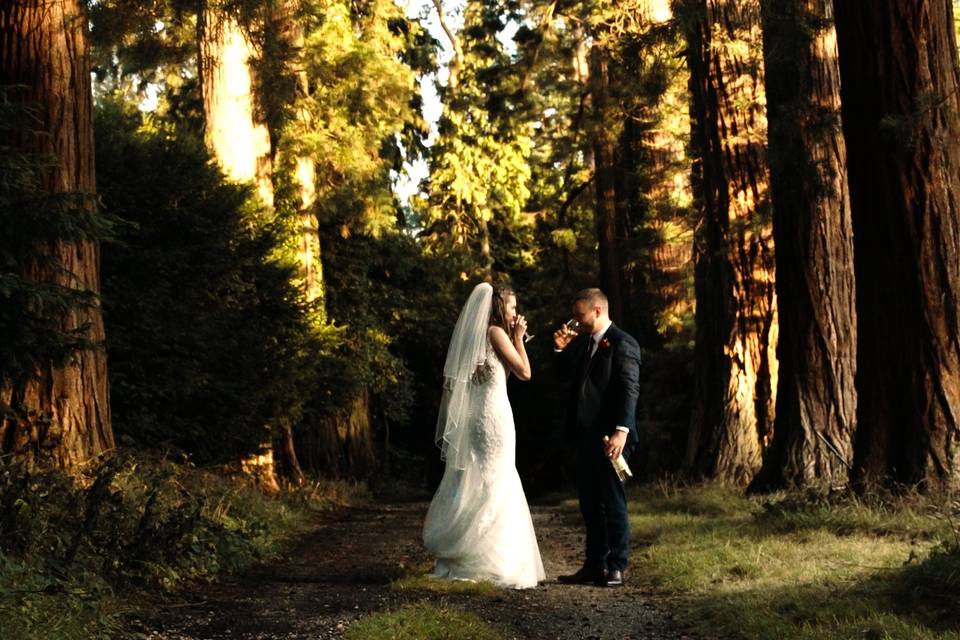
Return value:
<svg viewBox="0 0 960 640">
<path fill-rule="evenodd" d="M 507 370 L 489 340 L 468 386 L 463 469 L 447 460 L 423 527 L 434 576 L 524 589 L 544 580 L 540 548 L 516 468 Z"/>
</svg>

